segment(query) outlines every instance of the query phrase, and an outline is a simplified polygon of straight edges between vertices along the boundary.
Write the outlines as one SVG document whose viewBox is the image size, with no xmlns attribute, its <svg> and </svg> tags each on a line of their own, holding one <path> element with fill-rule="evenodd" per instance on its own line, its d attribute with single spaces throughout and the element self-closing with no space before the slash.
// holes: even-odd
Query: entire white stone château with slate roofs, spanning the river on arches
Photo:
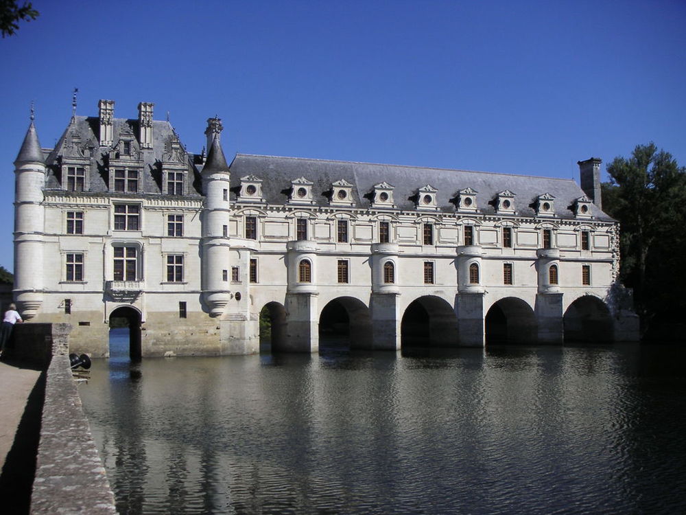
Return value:
<svg viewBox="0 0 686 515">
<path fill-rule="evenodd" d="M 274 350 L 635 339 L 619 306 L 617 222 L 600 159 L 566 179 L 238 154 L 220 119 L 187 152 L 141 102 L 137 119 L 74 115 L 55 148 L 32 121 L 14 162 L 14 298 L 69 322 L 73 352 L 250 354 L 259 314 Z"/>
</svg>

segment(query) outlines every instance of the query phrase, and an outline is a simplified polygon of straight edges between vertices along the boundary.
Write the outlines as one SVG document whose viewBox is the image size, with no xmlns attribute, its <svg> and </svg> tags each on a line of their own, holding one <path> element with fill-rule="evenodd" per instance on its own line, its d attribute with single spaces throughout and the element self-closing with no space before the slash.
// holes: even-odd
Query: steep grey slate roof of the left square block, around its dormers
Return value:
<svg viewBox="0 0 686 515">
<path fill-rule="evenodd" d="M 107 172 L 104 168 L 104 155 L 106 155 L 110 147 L 99 146 L 99 118 L 75 116 L 71 119 L 69 126 L 62 133 L 62 137 L 57 142 L 54 150 L 52 150 L 47 157 L 46 164 L 48 167 L 46 187 L 47 189 L 59 188 L 58 168 L 60 165 L 60 156 L 75 157 L 77 159 L 83 158 L 83 151 L 86 150 L 87 157 L 92 153 L 93 157 L 90 160 L 91 165 L 86 170 L 89 174 L 88 187 L 89 192 L 107 192 Z M 121 139 L 122 135 L 133 137 L 136 142 L 136 149 L 140 148 L 140 131 L 138 119 L 113 119 L 113 145 Z M 161 170 L 159 163 L 161 161 L 169 161 L 169 151 L 171 141 L 178 141 L 178 135 L 174 132 L 174 128 L 166 121 L 154 120 L 152 122 L 152 136 L 153 148 L 152 150 L 143 150 L 141 158 L 143 161 L 143 170 L 141 177 L 141 185 L 143 193 L 159 194 L 161 193 Z M 92 149 L 92 152 L 88 152 Z M 132 150 L 132 153 L 134 150 Z M 194 181 L 196 180 L 196 168 L 193 165 L 193 155 L 187 154 L 188 170 L 186 192 L 191 195 L 197 195 Z"/>
</svg>

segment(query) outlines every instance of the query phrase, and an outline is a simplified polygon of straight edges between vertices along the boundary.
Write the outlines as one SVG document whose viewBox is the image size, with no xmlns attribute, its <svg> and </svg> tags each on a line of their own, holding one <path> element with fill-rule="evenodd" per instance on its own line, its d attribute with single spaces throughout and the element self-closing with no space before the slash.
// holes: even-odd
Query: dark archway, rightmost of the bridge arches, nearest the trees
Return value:
<svg viewBox="0 0 686 515">
<path fill-rule="evenodd" d="M 612 341 L 613 323 L 606 304 L 591 295 L 573 301 L 565 311 L 565 341 Z"/>
</svg>

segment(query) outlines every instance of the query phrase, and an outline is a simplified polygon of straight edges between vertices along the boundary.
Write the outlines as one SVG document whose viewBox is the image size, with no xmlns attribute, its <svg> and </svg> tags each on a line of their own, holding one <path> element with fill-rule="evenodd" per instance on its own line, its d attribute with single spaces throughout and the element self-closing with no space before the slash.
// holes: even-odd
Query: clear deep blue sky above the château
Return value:
<svg viewBox="0 0 686 515">
<path fill-rule="evenodd" d="M 47 1 L 0 40 L 0 265 L 36 104 L 71 117 L 154 102 L 188 150 L 578 177 L 654 141 L 686 165 L 686 2 Z"/>
</svg>

